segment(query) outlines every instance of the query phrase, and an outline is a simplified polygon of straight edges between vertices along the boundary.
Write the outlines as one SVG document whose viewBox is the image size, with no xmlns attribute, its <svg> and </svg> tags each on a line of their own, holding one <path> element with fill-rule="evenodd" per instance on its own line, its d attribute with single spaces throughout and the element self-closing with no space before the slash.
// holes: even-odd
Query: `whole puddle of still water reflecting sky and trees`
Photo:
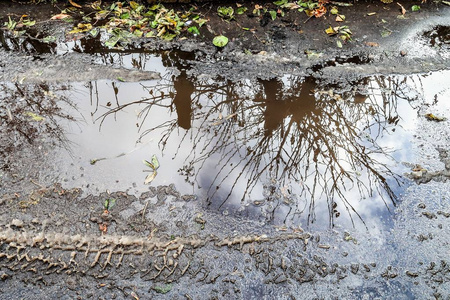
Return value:
<svg viewBox="0 0 450 300">
<path fill-rule="evenodd" d="M 71 146 L 51 155 L 47 178 L 94 194 L 175 184 L 224 215 L 383 230 L 414 167 L 418 124 L 448 112 L 448 71 L 232 81 L 191 76 L 186 55 L 97 55 L 163 79 L 71 84 L 63 94 L 77 121 L 61 120 Z M 159 168 L 144 184 L 153 156 Z"/>
</svg>

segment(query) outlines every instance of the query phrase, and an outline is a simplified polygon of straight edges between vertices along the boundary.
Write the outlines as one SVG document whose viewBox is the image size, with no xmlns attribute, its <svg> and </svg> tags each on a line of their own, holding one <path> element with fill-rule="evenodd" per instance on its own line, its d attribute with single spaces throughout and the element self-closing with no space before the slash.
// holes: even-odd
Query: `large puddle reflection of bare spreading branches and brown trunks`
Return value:
<svg viewBox="0 0 450 300">
<path fill-rule="evenodd" d="M 388 154 L 376 139 L 398 123 L 399 99 L 411 99 L 403 94 L 400 79 L 375 77 L 354 83 L 371 89 L 366 91 L 369 96 L 355 89 L 327 90 L 313 78 L 231 83 L 194 81 L 182 71 L 173 81 L 167 78 L 166 85 L 163 81 L 145 87 L 151 97 L 117 106 L 102 118 L 135 104 L 146 104 L 140 114 L 144 120 L 154 106 L 176 111 L 178 120 L 143 130 L 141 137 L 164 129 L 160 139 L 164 150 L 177 128 L 192 127 L 182 137 L 190 139 L 192 150 L 180 171 L 195 170 L 195 181 L 201 185 L 202 174 L 208 174 L 208 195 L 214 206 L 224 205 L 241 182 L 246 186 L 245 201 L 261 181 L 269 182 L 264 201 L 271 203 L 272 216 L 282 205 L 300 207 L 300 199 L 307 201 L 308 220 L 313 222 L 316 201 L 323 199 L 330 224 L 338 210 L 361 218 L 347 194 L 352 189 L 360 197 L 378 193 L 385 197 L 386 206 L 395 204 L 389 182 L 398 182 L 399 177 L 383 163 L 380 157 Z M 207 163 L 212 159 L 217 169 L 211 177 Z M 221 190 L 227 194 L 217 197 Z"/>
</svg>

